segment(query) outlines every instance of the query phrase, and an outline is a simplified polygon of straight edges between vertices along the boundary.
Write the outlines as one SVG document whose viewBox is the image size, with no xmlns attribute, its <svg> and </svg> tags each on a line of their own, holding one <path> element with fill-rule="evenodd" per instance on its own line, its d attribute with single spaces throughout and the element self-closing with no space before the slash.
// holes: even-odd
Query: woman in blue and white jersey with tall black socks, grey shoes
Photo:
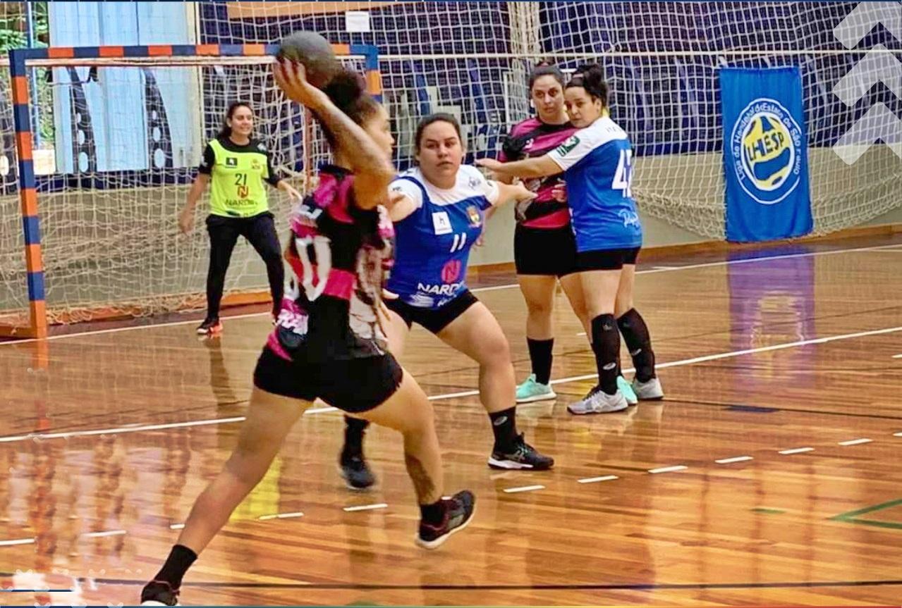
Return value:
<svg viewBox="0 0 902 608">
<path fill-rule="evenodd" d="M 664 396 L 655 375 L 649 329 L 633 308 L 642 226 L 632 199 L 632 148 L 626 132 L 607 115 L 608 87 L 601 66 L 579 68 L 565 89 L 567 113 L 580 130 L 545 156 L 480 162 L 499 176 L 544 177 L 564 173 L 576 235 L 576 267 L 591 321 L 598 385 L 570 404 L 571 413 L 618 412 L 628 407 L 617 387 L 620 333 L 630 350 L 640 399 Z"/>
</svg>

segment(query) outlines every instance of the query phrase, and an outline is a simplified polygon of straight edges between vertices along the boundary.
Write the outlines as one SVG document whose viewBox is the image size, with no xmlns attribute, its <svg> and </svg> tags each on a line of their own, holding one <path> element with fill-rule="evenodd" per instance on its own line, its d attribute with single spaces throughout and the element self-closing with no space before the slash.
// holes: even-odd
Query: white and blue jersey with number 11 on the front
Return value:
<svg viewBox="0 0 902 608">
<path fill-rule="evenodd" d="M 464 165 L 449 190 L 429 184 L 414 168 L 396 177 L 389 191 L 409 196 L 417 209 L 394 223 L 388 290 L 411 306 L 441 308 L 466 289 L 470 249 L 483 231 L 485 210 L 498 199 L 498 185 Z"/>
</svg>

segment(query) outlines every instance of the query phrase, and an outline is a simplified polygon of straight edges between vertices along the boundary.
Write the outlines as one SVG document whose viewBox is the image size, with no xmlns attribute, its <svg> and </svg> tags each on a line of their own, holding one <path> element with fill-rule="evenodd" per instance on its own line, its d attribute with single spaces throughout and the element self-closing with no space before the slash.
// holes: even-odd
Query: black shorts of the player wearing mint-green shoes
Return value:
<svg viewBox="0 0 902 608">
<path fill-rule="evenodd" d="M 513 232 L 513 262 L 518 275 L 563 277 L 576 272 L 576 238 L 573 229 L 526 228 Z"/>
</svg>

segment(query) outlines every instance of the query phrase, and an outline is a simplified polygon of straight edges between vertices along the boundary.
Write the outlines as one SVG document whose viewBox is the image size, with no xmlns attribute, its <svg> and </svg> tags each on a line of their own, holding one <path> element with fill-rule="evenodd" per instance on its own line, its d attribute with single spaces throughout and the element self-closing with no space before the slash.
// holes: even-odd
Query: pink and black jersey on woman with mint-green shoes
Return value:
<svg viewBox="0 0 902 608">
<path fill-rule="evenodd" d="M 570 123 L 546 124 L 538 118 L 528 118 L 511 129 L 498 159 L 507 162 L 542 156 L 555 150 L 576 131 Z M 552 189 L 563 182 L 563 176 L 559 175 L 524 180 L 524 185 L 538 196 L 517 204 L 517 222 L 526 228 L 550 229 L 568 225 L 570 211 L 567 204 L 557 202 L 551 194 Z"/>
</svg>

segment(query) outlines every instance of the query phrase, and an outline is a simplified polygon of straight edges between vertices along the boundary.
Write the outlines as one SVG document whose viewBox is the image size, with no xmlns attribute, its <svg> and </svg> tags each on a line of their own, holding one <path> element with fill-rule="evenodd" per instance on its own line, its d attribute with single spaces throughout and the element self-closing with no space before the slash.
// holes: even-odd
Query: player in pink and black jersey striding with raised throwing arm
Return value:
<svg viewBox="0 0 902 608">
<path fill-rule="evenodd" d="M 435 549 L 462 530 L 474 496 L 443 498 L 442 460 L 432 406 L 387 351 L 379 308 L 391 222 L 382 208 L 394 177 L 389 117 L 356 74 L 339 74 L 327 92 L 302 66 L 281 61 L 276 80 L 323 126 L 335 158 L 317 189 L 291 215 L 286 258 L 294 277 L 275 330 L 253 373 L 238 445 L 191 509 L 142 603 L 175 605 L 191 564 L 265 475 L 294 422 L 320 398 L 356 418 L 400 431 L 420 507 L 416 542 Z"/>
</svg>

